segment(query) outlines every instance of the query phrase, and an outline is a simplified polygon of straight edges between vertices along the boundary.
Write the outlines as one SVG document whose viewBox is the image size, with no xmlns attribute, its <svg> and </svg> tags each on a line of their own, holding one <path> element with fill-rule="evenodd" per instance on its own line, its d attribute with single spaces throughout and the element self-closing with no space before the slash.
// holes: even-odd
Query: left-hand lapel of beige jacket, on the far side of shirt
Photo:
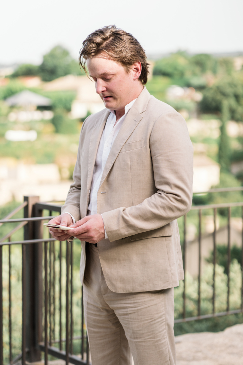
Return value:
<svg viewBox="0 0 243 365">
<path fill-rule="evenodd" d="M 90 142 L 89 142 L 89 161 L 88 161 L 88 178 L 87 178 L 87 190 L 90 190 L 92 177 L 93 177 L 93 170 L 94 170 L 94 164 L 95 164 L 95 158 L 97 155 L 97 150 L 99 146 L 99 141 L 101 139 L 101 135 L 103 132 L 103 129 L 106 124 L 106 120 L 109 116 L 110 112 L 109 110 L 105 110 L 105 114 L 103 117 L 99 118 L 97 122 L 95 123 L 91 136 L 90 136 Z"/>
</svg>

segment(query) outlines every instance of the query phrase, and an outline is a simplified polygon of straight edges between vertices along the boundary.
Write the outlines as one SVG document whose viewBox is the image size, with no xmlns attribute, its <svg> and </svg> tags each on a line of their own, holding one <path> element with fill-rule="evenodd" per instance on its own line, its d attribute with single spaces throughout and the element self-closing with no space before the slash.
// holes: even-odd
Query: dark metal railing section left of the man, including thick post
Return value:
<svg viewBox="0 0 243 365">
<path fill-rule="evenodd" d="M 24 218 L 10 219 L 24 208 Z M 48 210 L 49 215 L 42 216 L 43 210 Z M 66 364 L 89 364 L 89 343 L 85 330 L 83 314 L 83 288 L 80 284 L 80 336 L 74 333 L 73 318 L 73 242 L 59 242 L 59 250 L 56 250 L 54 238 L 43 238 L 44 220 L 54 218 L 52 212 L 60 214 L 61 206 L 48 203 L 39 203 L 39 197 L 24 197 L 24 203 L 12 211 L 4 219 L 0 220 L 0 226 L 8 223 L 19 223 L 8 234 L 0 238 L 0 365 L 4 364 L 3 342 L 3 246 L 8 246 L 8 351 L 9 364 L 14 364 L 22 358 L 22 364 L 26 361 L 35 362 L 41 360 L 41 352 L 44 352 L 44 362 L 47 365 L 48 354 L 66 361 Z M 24 239 L 11 241 L 11 236 L 24 227 Z M 6 240 L 8 241 L 6 242 Z M 5 241 L 5 242 L 4 242 Z M 11 291 L 11 247 L 21 245 L 22 250 L 22 352 L 14 359 L 12 356 L 12 291 Z M 66 248 L 66 291 L 63 288 L 63 258 Z M 56 251 L 58 257 L 56 257 Z M 59 278 L 56 277 L 59 266 Z M 57 280 L 58 279 L 58 280 Z M 58 281 L 58 304 L 56 303 L 56 286 Z M 65 294 L 64 294 L 65 292 Z M 66 296 L 64 307 L 63 294 Z M 56 305 L 57 304 L 57 305 Z M 63 316 L 63 311 L 64 316 Z M 58 314 L 59 323 L 56 323 Z M 63 319 L 63 317 L 66 319 Z M 65 322 L 65 323 L 63 323 Z M 55 338 L 58 325 L 59 335 Z M 63 338 L 63 326 L 65 338 Z M 76 331 L 77 332 L 77 331 Z M 73 341 L 80 340 L 79 356 L 73 352 Z M 65 347 L 63 347 L 65 343 Z M 58 347 L 56 347 L 58 345 Z M 77 351 L 76 351 L 77 352 Z M 6 356 L 5 356 L 6 358 Z M 6 361 L 5 361 L 6 363 Z"/>
</svg>

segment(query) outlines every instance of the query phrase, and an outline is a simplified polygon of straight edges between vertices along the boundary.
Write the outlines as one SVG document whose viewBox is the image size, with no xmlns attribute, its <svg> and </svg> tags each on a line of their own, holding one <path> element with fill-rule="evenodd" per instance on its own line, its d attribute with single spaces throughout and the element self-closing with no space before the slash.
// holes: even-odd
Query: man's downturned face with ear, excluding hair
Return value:
<svg viewBox="0 0 243 365">
<path fill-rule="evenodd" d="M 140 66 L 139 62 L 137 68 L 134 64 L 128 73 L 122 65 L 108 58 L 106 53 L 87 60 L 89 75 L 93 78 L 96 92 L 107 109 L 124 109 L 125 105 L 136 99 L 138 87 L 143 88 L 138 81 Z"/>
</svg>

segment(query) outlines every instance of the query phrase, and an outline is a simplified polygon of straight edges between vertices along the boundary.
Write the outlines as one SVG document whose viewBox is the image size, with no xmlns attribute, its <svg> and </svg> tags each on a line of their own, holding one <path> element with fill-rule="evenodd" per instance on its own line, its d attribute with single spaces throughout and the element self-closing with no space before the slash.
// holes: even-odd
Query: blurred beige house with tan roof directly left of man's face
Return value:
<svg viewBox="0 0 243 365">
<path fill-rule="evenodd" d="M 71 117 L 84 118 L 87 112 L 96 113 L 105 108 L 103 101 L 95 91 L 94 81 L 87 76 L 67 75 L 43 85 L 46 91 L 74 90 L 76 99 L 72 102 Z"/>
</svg>

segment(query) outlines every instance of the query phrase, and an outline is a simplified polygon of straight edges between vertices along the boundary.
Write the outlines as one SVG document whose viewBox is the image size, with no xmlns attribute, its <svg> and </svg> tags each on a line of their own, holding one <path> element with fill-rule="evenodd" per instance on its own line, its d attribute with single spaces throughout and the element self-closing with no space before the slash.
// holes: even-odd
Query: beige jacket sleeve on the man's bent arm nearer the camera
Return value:
<svg viewBox="0 0 243 365">
<path fill-rule="evenodd" d="M 102 213 L 110 242 L 163 227 L 191 208 L 193 147 L 184 118 L 175 110 L 161 115 L 149 148 L 157 192 L 138 205 Z"/>
</svg>

